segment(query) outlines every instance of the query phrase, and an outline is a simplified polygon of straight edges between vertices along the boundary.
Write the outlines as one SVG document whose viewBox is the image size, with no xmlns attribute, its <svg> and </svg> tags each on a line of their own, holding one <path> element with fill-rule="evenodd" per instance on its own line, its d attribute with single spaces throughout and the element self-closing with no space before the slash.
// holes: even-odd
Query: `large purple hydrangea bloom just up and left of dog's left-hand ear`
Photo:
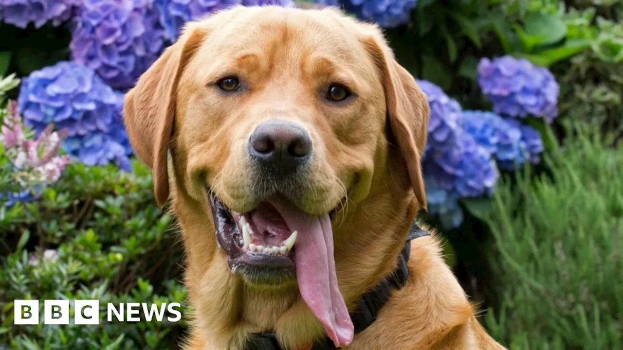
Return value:
<svg viewBox="0 0 623 350">
<path fill-rule="evenodd" d="M 113 88 L 131 88 L 164 48 L 151 0 L 84 0 L 72 26 L 72 58 Z"/>
</svg>

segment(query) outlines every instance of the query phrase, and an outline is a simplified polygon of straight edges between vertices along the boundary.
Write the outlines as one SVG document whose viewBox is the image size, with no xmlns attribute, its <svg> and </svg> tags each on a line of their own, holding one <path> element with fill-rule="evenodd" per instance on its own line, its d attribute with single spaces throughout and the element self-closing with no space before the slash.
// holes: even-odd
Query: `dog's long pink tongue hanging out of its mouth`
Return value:
<svg viewBox="0 0 623 350">
<path fill-rule="evenodd" d="M 337 348 L 350 344 L 354 327 L 338 288 L 329 215 L 310 215 L 278 199 L 270 203 L 282 215 L 290 230 L 298 231 L 294 252 L 298 290 L 303 300 Z"/>
</svg>

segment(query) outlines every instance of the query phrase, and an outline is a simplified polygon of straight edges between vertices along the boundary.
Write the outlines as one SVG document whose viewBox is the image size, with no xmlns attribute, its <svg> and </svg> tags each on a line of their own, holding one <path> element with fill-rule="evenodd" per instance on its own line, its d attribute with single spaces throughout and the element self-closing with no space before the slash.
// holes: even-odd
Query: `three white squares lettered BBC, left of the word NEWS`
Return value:
<svg viewBox="0 0 623 350">
<path fill-rule="evenodd" d="M 39 324 L 39 300 L 15 300 L 14 324 Z M 75 324 L 99 324 L 99 300 L 75 300 Z M 69 324 L 69 300 L 44 300 L 44 324 Z"/>
</svg>

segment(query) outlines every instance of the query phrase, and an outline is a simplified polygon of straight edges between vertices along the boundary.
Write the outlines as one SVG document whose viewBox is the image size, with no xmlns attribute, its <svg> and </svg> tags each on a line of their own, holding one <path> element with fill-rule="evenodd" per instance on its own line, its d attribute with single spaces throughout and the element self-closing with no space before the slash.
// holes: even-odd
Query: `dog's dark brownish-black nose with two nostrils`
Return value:
<svg viewBox="0 0 623 350">
<path fill-rule="evenodd" d="M 249 153 L 265 169 L 286 175 L 308 161 L 312 140 L 307 131 L 293 123 L 267 121 L 251 133 Z"/>
</svg>

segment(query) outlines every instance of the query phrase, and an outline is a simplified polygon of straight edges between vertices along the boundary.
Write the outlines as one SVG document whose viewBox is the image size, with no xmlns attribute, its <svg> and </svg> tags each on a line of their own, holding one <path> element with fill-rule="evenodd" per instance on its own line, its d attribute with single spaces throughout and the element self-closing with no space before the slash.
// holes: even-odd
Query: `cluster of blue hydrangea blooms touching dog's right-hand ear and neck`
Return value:
<svg viewBox="0 0 623 350">
<path fill-rule="evenodd" d="M 441 88 L 417 80 L 430 107 L 424 179 L 430 214 L 446 228 L 462 224 L 459 200 L 491 196 L 499 169 L 538 163 L 543 141 L 534 128 L 491 111 L 462 110 Z"/>
</svg>

